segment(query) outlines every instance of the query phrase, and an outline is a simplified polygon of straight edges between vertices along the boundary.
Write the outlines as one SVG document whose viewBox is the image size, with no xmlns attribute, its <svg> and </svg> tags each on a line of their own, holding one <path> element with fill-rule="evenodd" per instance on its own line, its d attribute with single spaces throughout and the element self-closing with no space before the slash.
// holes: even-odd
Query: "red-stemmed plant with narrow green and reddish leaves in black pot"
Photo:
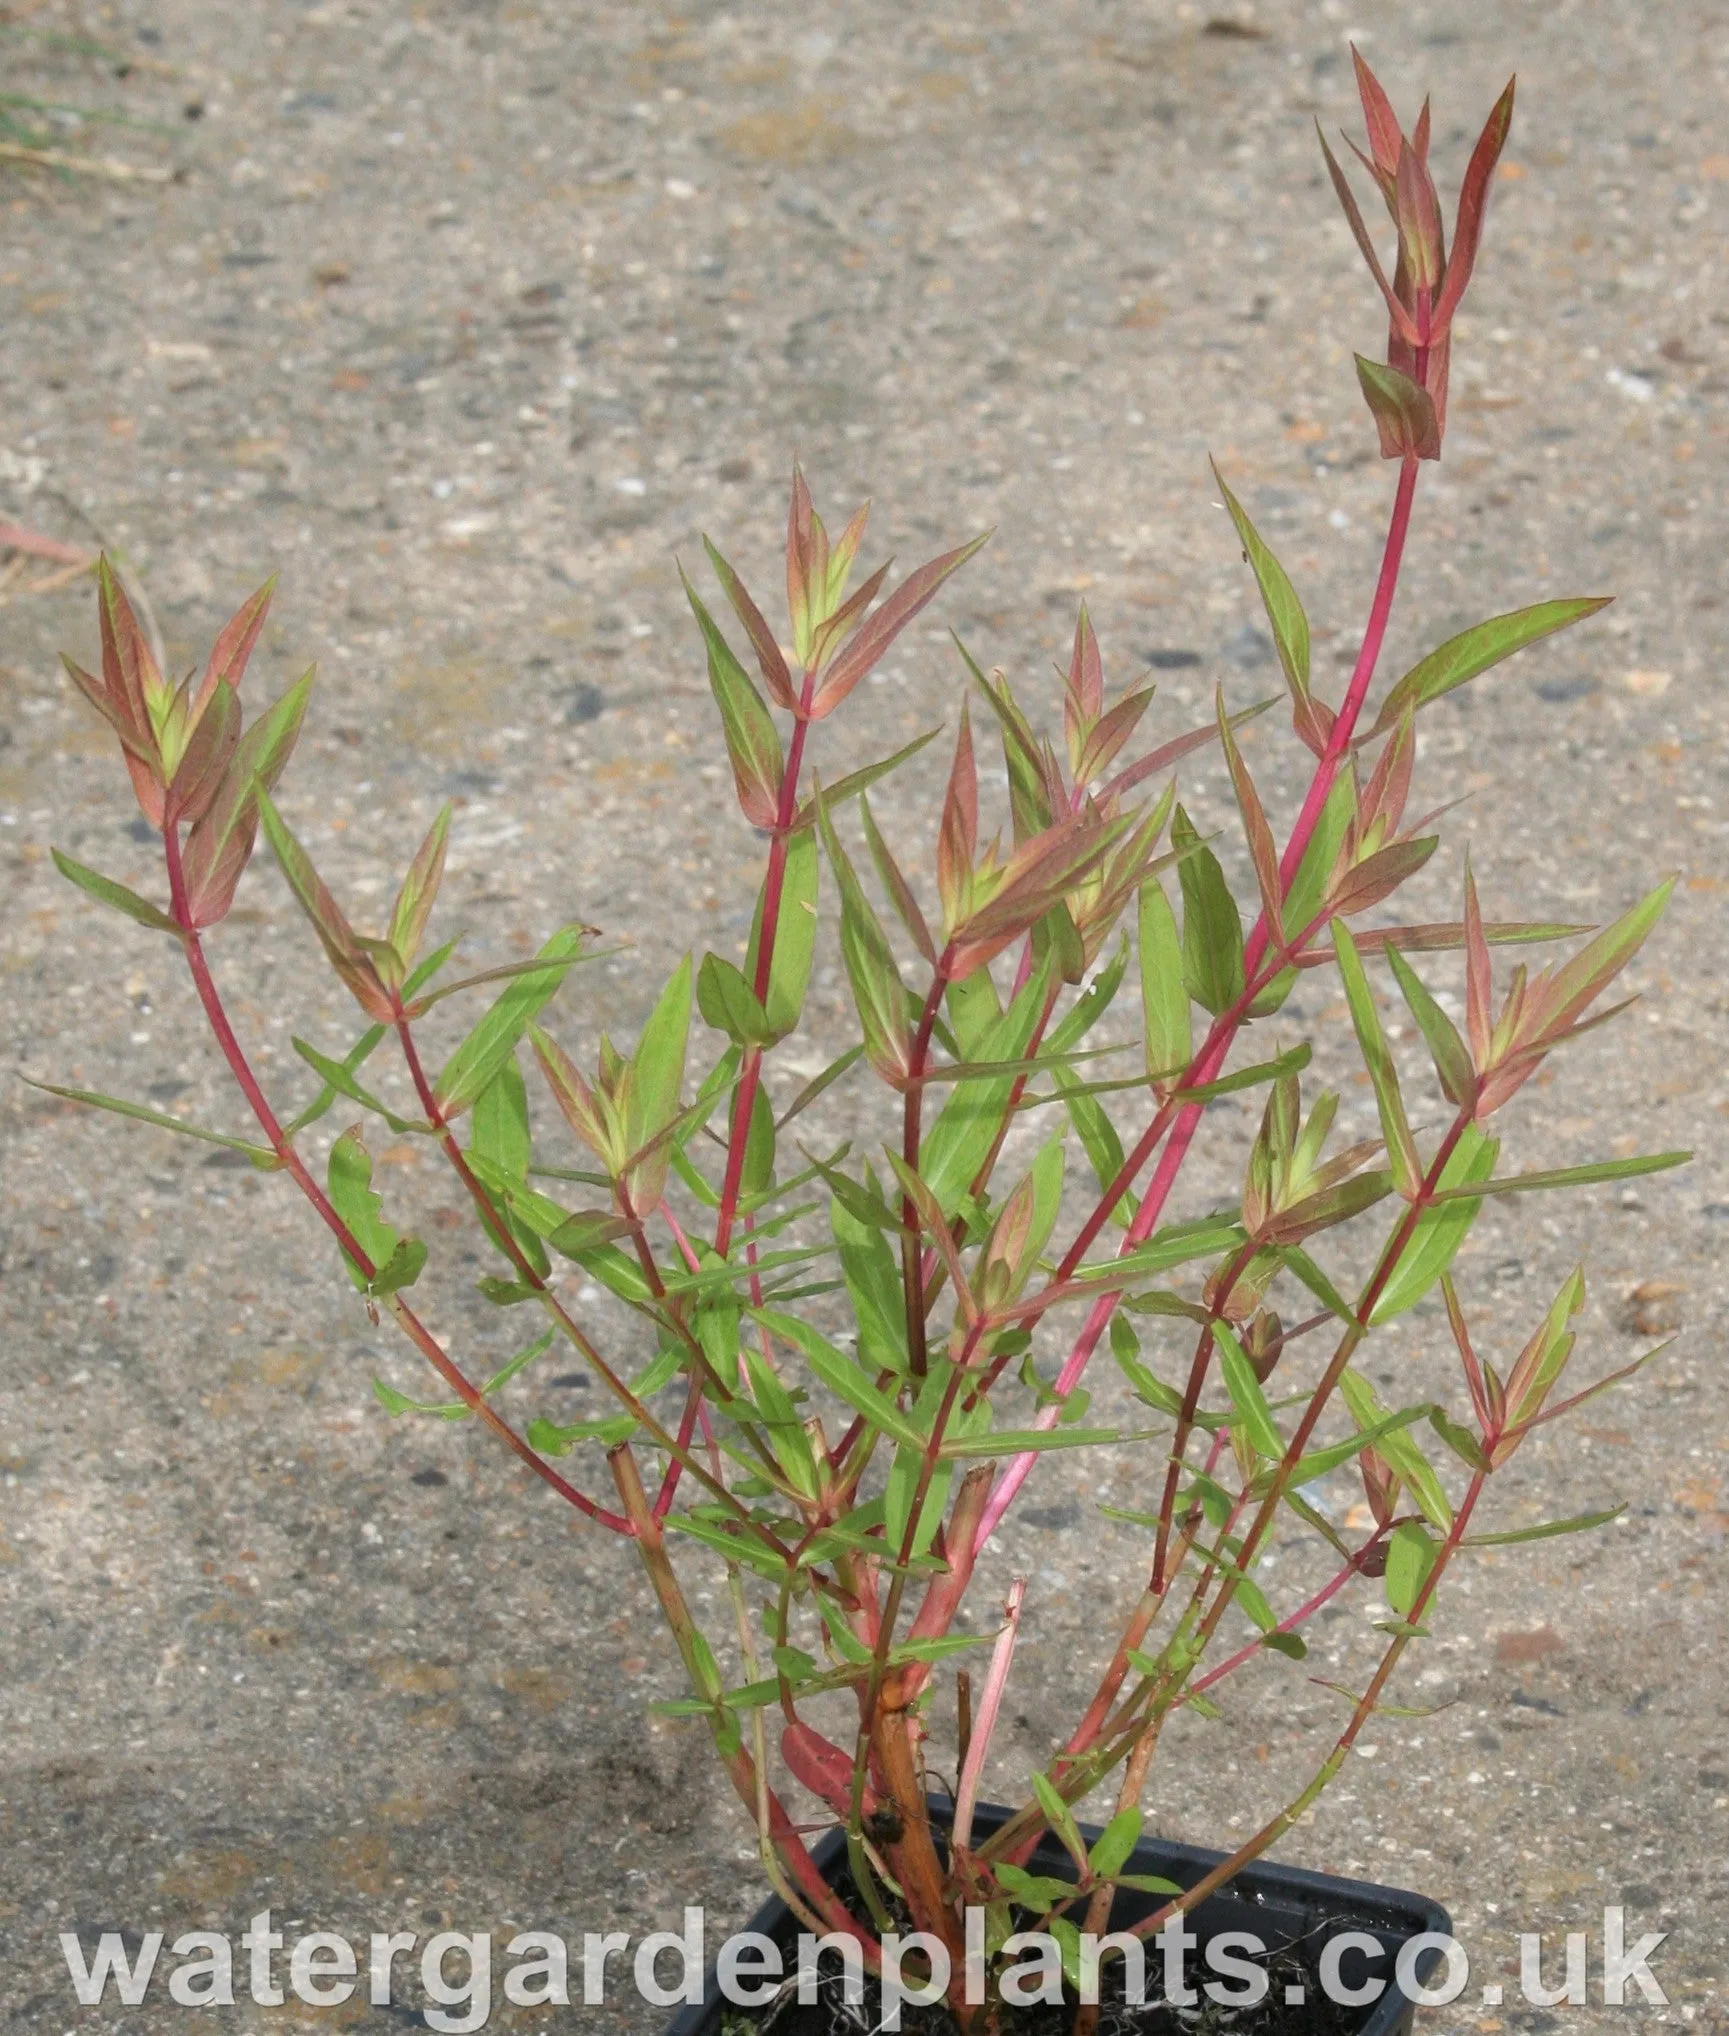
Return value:
<svg viewBox="0 0 1729 2036">
<path fill-rule="evenodd" d="M 1220 478 L 1289 692 L 1295 768 L 1283 790 L 1295 823 L 1283 841 L 1263 796 L 1283 766 L 1265 753 L 1257 782 L 1242 737 L 1271 702 L 1220 694 L 1204 727 L 1142 747 L 1153 686 L 1110 694 L 1081 613 L 1061 735 L 961 649 L 933 839 L 896 851 L 870 796 L 931 737 L 835 778 L 825 723 L 857 713 L 859 682 L 984 540 L 888 592 L 886 566 L 853 588 L 866 513 L 831 540 L 794 472 L 786 631 L 713 546 L 715 609 L 731 611 L 743 654 L 684 582 L 737 804 L 768 839 L 747 949 L 686 957 L 631 1051 L 603 1036 L 578 1063 L 580 1014 L 554 1018 L 550 1006 L 593 951 L 591 928 L 570 924 L 532 961 L 462 979 L 450 977 L 454 943 L 426 951 L 448 810 L 383 926 L 358 932 L 326 890 L 275 804 L 312 674 L 242 727 L 240 684 L 271 588 L 222 631 L 202 678 L 175 686 L 102 568 L 102 672 L 69 670 L 120 739 L 161 835 L 167 896 L 151 902 L 57 861 L 183 949 L 257 1134 L 55 1093 L 218 1138 L 287 1175 L 373 1319 L 389 1315 L 454 1395 L 424 1409 L 381 1387 L 387 1411 L 475 1417 L 580 1515 L 635 1543 L 690 1686 L 668 1708 L 713 1737 L 756 1826 L 778 1898 L 770 1934 L 827 1940 L 796 1983 L 770 1971 L 739 1991 L 737 1971 L 723 1971 L 684 2026 L 719 2028 L 721 1993 L 766 2001 L 772 2020 L 800 1995 L 808 2007 L 825 1987 L 861 1983 L 888 2028 L 910 2010 L 969 2036 L 1022 2018 L 1055 2028 L 1073 2016 L 1087 2030 L 1100 1987 L 1132 1993 L 1140 1953 L 1169 1959 L 1187 1926 L 1208 1985 L 1230 1981 L 1212 1999 L 1267 2001 L 1267 2028 L 1312 2026 L 1299 1999 L 1314 1981 L 1344 2001 L 1314 2026 L 1397 2026 L 1411 1977 L 1442 1948 L 1421 1940 L 1444 1914 L 1263 1855 L 1338 1773 L 1472 1547 L 1611 1517 L 1495 1527 L 1523 1439 L 1637 1370 L 1564 1384 L 1582 1277 L 1533 1321 L 1491 1325 L 1452 1266 L 1485 1195 L 1684 1156 L 1497 1173 L 1501 1112 L 1558 1047 L 1611 1016 L 1599 1000 L 1668 886 L 1593 930 L 1491 918 L 1466 869 L 1454 920 L 1389 916 L 1440 847 L 1434 816 L 1411 818 L 1417 717 L 1603 603 L 1497 615 L 1371 700 L 1419 476 L 1442 456 L 1454 314 L 1513 88 L 1470 155 L 1448 244 L 1428 106 L 1407 134 L 1360 59 L 1356 75 L 1356 155 L 1393 218 L 1391 277 L 1332 151 L 1326 161 L 1389 314 L 1387 358 L 1358 358 L 1356 373 L 1393 462 L 1393 503 L 1336 704 L 1312 684 L 1291 580 Z M 1000 741 L 1008 778 L 1006 825 L 990 841 L 975 723 Z M 1214 743 L 1252 871 L 1240 894 L 1177 796 L 1181 759 Z M 265 1093 L 206 951 L 259 831 L 365 1018 L 340 1055 L 295 1038 L 314 1089 L 293 1114 Z M 933 884 L 908 875 L 914 855 Z M 605 916 L 599 900 L 584 906 Z M 837 937 L 853 1038 L 815 1077 L 788 1077 L 819 928 Z M 1497 947 L 1527 943 L 1560 943 L 1560 959 L 1519 961 L 1497 989 Z M 1434 985 L 1436 967 L 1458 967 L 1452 957 L 1456 996 Z M 1340 1030 L 1379 1112 L 1373 1140 L 1340 1144 L 1338 1097 L 1305 1095 L 1312 1040 L 1287 998 L 1307 971 L 1342 992 Z M 434 1057 L 438 1006 L 495 981 L 479 1022 Z M 1389 1044 L 1389 1000 L 1428 1049 L 1434 1081 L 1424 1075 L 1421 1093 Z M 411 1114 L 377 1093 L 369 1063 L 385 1049 L 411 1079 Z M 1212 1106 L 1250 1091 L 1265 1108 L 1234 1156 L 1240 1193 L 1222 1207 L 1185 1197 L 1197 1142 L 1212 1132 L 1230 1148 L 1234 1136 L 1234 1110 Z M 808 1136 L 825 1097 L 823 1110 L 845 1097 L 859 1126 L 849 1140 Z M 497 1254 L 481 1287 L 501 1346 L 515 1348 L 507 1362 L 448 1350 L 417 1313 L 428 1246 L 397 1228 L 360 1124 L 314 1167 L 314 1126 L 338 1108 L 442 1152 Z M 570 1266 L 642 1317 L 646 1364 L 631 1370 L 584 1325 L 562 1283 Z M 1446 1405 L 1383 1399 L 1362 1368 L 1364 1346 L 1417 1305 L 1456 1352 Z M 515 1309 L 538 1319 L 536 1336 L 513 1327 Z M 605 1389 L 603 1417 L 534 1417 L 534 1364 L 554 1346 Z M 1126 1423 L 1090 1417 L 1102 1368 L 1132 1395 Z M 1061 1482 L 1075 1452 L 1116 1452 L 1132 1470 L 1142 1496 L 1118 1519 L 1145 1535 L 1145 1584 L 1102 1645 L 1096 1694 L 1069 1737 L 1016 1804 L 990 1806 L 986 1759 L 1037 1598 L 1014 1578 L 1000 1615 L 992 1602 L 980 1617 L 969 1594 L 1026 1482 Z M 1360 1478 L 1367 1525 L 1330 1517 L 1316 1496 L 1330 1476 Z M 1295 1562 L 1277 1586 L 1261 1568 L 1281 1531 L 1312 1543 L 1299 1592 L 1285 1588 Z M 701 1566 L 725 1582 L 725 1631 L 692 1610 L 684 1574 Z M 1140 1802 L 1167 1720 L 1206 1714 L 1267 1655 L 1301 1661 L 1307 1623 L 1346 1592 L 1385 1600 L 1385 1651 L 1367 1688 L 1342 1692 L 1342 1727 L 1307 1788 L 1228 1855 L 1145 1839 Z M 1085 1826 L 1077 1812 L 1094 1800 L 1102 1818 Z M 1232 1967 L 1228 1938 L 1244 1916 L 1271 1940 Z M 1316 1944 L 1338 1924 L 1354 1930 L 1344 1953 Z M 1411 1944 L 1405 1993 L 1364 1981 L 1377 1957 Z M 1181 1979 L 1169 1963 L 1163 1973 L 1155 1997 L 1181 2003 Z"/>
</svg>

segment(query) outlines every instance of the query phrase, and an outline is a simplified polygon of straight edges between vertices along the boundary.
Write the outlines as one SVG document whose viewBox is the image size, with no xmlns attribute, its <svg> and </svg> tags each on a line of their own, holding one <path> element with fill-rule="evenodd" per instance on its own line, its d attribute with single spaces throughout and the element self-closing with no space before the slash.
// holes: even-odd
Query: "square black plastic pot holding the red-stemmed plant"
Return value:
<svg viewBox="0 0 1729 2036">
<path fill-rule="evenodd" d="M 947 1832 L 949 1826 L 949 1812 L 951 1804 L 947 1800 L 933 1798 L 931 1818 L 943 1832 Z M 988 1836 L 1012 1812 L 1000 1808 L 998 1804 L 980 1804 L 973 1812 L 975 1839 Z M 1081 1830 L 1092 1845 L 1098 1836 L 1098 1828 L 1083 1824 Z M 845 1834 L 841 1830 L 829 1832 L 813 1857 L 823 1877 L 829 1883 L 839 1883 L 847 1869 Z M 1128 1871 L 1153 1873 L 1161 1879 L 1177 1881 L 1181 1887 L 1193 1887 L 1195 1881 L 1208 1875 L 1224 1857 L 1224 1853 L 1208 1853 L 1195 1845 L 1167 1845 L 1163 1839 L 1142 1839 L 1134 1849 Z M 1073 1879 L 1073 1863 L 1069 1861 L 1069 1855 L 1049 1834 L 1028 1861 L 1028 1867 L 1035 1873 L 1055 1873 L 1063 1879 Z M 1155 1914 L 1159 1906 L 1161 1898 L 1122 1889 L 1110 1912 L 1110 1928 L 1128 1930 L 1142 1918 Z M 780 1944 L 786 1955 L 786 1971 L 790 1973 L 792 1953 L 802 1924 L 786 1908 L 786 1904 L 778 1898 L 766 1902 L 756 1916 L 751 1916 L 747 1928 L 760 1930 L 764 1936 L 774 1938 L 774 1942 Z M 1187 1983 L 1191 1987 L 1200 1987 L 1208 1979 L 1216 1977 L 1206 1965 L 1208 1944 L 1214 1938 L 1224 1936 L 1228 1930 L 1252 1932 L 1271 1955 L 1279 1955 L 1293 1944 L 1307 1944 L 1318 1950 L 1330 1936 L 1344 1930 L 1360 1930 L 1364 1936 L 1375 1938 L 1381 1946 L 1381 1959 L 1371 1959 L 1362 1950 L 1346 1950 L 1340 1965 L 1342 1981 L 1346 1987 L 1356 1989 L 1373 1979 L 1385 1979 L 1385 1989 L 1379 1999 L 1364 2003 L 1358 2010 L 1360 2022 L 1356 2022 L 1356 2036 L 1407 2036 L 1415 2016 L 1415 2003 L 1401 1993 L 1393 1977 L 1397 1955 L 1413 1938 L 1428 1932 L 1450 1934 L 1452 1922 L 1446 1910 L 1438 1902 L 1430 1902 L 1426 1896 L 1407 1893 L 1399 1887 L 1377 1887 L 1373 1881 L 1346 1881 L 1332 1873 L 1309 1873 L 1303 1867 L 1279 1867 L 1263 1861 L 1252 1867 L 1244 1867 L 1232 1881 L 1226 1883 L 1226 1887 L 1208 1896 L 1206 1902 L 1189 1914 L 1187 1928 L 1191 1928 L 1197 1938 L 1195 1948 L 1187 1955 Z M 1430 1985 L 1434 1981 L 1440 1959 L 1442 1953 L 1438 1948 L 1426 1948 L 1419 1955 L 1415 1969 L 1417 1985 Z M 1149 1957 L 1147 1965 L 1149 2007 L 1155 2005 L 1157 1975 L 1159 1959 L 1155 1955 Z M 1269 1997 L 1269 2007 L 1277 2007 L 1273 1997 Z M 727 2010 L 727 2001 L 721 1995 L 715 1967 L 711 1965 L 703 1979 L 703 2001 L 680 2007 L 668 2022 L 666 2036 L 719 2036 L 723 2010 Z M 735 2007 L 731 2012 L 741 2014 L 747 2010 Z M 1277 2028 L 1277 2020 L 1273 2026 Z"/>
</svg>

